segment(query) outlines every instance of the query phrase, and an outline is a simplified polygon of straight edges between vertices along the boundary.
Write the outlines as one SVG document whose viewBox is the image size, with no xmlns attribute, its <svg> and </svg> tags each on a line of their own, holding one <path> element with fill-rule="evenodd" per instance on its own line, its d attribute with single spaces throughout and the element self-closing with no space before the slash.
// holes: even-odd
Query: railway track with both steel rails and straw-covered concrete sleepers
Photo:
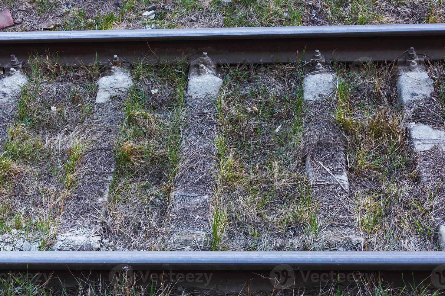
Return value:
<svg viewBox="0 0 445 296">
<path fill-rule="evenodd" d="M 72 147 L 74 144 L 69 138 L 74 132 L 82 134 L 86 130 L 87 134 L 96 136 L 94 141 L 100 149 L 91 156 L 91 172 L 82 176 L 81 185 L 73 185 L 72 178 L 68 176 L 69 162 L 63 167 L 61 179 L 66 190 L 71 190 L 70 186 L 74 189 L 83 186 L 89 192 L 86 197 L 77 201 L 73 199 L 65 205 L 66 215 L 76 221 L 72 224 L 99 225 L 99 228 L 91 233 L 77 233 L 78 237 L 83 237 L 78 246 L 63 242 L 71 239 L 68 237 L 73 237 L 72 233 L 77 230 L 72 229 L 70 234 L 59 236 L 59 244 L 56 245 L 59 250 L 77 250 L 74 253 L 0 252 L 2 276 L 28 273 L 35 276 L 36 282 L 52 279 L 55 284 L 61 282 L 67 286 L 78 284 L 79 280 L 88 283 L 103 280 L 116 284 L 131 278 L 138 284 L 165 288 L 178 295 L 183 293 L 183 289 L 186 292 L 210 290 L 216 293 L 295 291 L 336 283 L 360 285 L 364 282 L 395 286 L 420 284 L 432 289 L 445 287 L 443 252 L 366 252 L 367 243 L 363 235 L 357 234 L 356 221 L 344 214 L 345 208 L 353 206 L 351 196 L 355 185 L 351 185 L 348 178 L 350 160 L 344 148 L 346 144 L 338 125 L 329 119 L 331 101 L 327 99 L 338 92 L 340 86 L 337 64 L 348 65 L 355 71 L 360 71 L 367 63 L 391 64 L 396 73 L 394 95 L 401 109 L 405 110 L 403 116 L 410 121 L 406 126 L 408 137 L 404 140 L 418 155 L 416 186 L 428 184 L 429 190 L 435 188 L 432 198 L 440 204 L 445 192 L 440 186 L 442 170 L 437 169 L 442 163 L 437 158 L 441 157 L 445 146 L 445 131 L 440 122 L 426 124 L 411 119 L 434 115 L 433 108 L 428 106 L 437 89 L 428 66 L 445 57 L 444 25 L 17 32 L 0 33 L 0 44 L 0 67 L 6 74 L 0 80 L 0 87 L 3 83 L 3 87 L 10 90 L 8 94 L 0 92 L 4 113 L 1 134 L 4 137 L 8 122 L 17 112 L 15 98 L 28 83 L 29 75 L 34 73 L 29 70 L 32 69 L 29 61 L 35 56 L 49 57 L 48 60 L 70 67 L 100 65 L 106 73 L 97 80 L 97 91 L 93 91 L 93 119 L 85 125 L 74 122 L 78 125 L 76 129 L 68 129 L 65 138 L 61 136 L 56 141 L 60 147 Z M 97 233 L 104 227 L 101 225 L 104 220 L 97 219 L 98 211 L 102 215 L 97 208 L 103 207 L 109 198 L 114 182 L 117 162 L 113 160 L 111 141 L 124 119 L 122 102 L 113 98 L 131 91 L 134 63 L 174 64 L 184 57 L 189 67 L 187 95 L 183 103 L 191 115 L 184 119 L 186 127 L 178 138 L 178 154 L 184 165 L 179 166 L 170 189 L 166 208 L 171 214 L 167 219 L 166 239 L 173 246 L 170 250 L 200 252 L 87 252 L 101 247 L 101 244 L 94 247 L 101 240 L 96 238 Z M 304 157 L 303 165 L 315 198 L 312 202 L 339 217 L 337 224 L 326 226 L 328 234 L 325 234 L 332 238 L 330 244 L 337 246 L 334 249 L 341 251 L 344 248 L 339 245 L 349 244 L 361 251 L 210 252 L 208 246 L 212 238 L 218 236 L 212 232 L 209 213 L 212 209 L 210 197 L 215 194 L 214 179 L 217 178 L 212 174 L 216 165 L 214 142 L 218 138 L 215 119 L 218 111 L 213 99 L 218 97 L 223 87 L 221 66 L 295 62 L 305 63 L 307 74 L 301 84 L 302 97 L 307 109 L 313 112 L 313 120 L 308 122 L 306 131 L 307 141 L 313 149 Z M 155 95 L 158 91 L 152 89 L 151 93 Z M 249 108 L 249 112 L 257 112 L 253 107 Z M 46 133 L 50 138 L 50 132 Z M 328 140 L 320 145 L 320 139 Z M 55 140 L 51 141 L 54 143 Z M 139 166 L 145 162 L 142 159 Z M 104 173 L 94 174 L 99 170 Z M 342 204 L 337 202 L 339 200 Z M 81 213 L 75 211 L 78 205 L 84 205 Z M 434 209 L 435 217 L 445 213 L 442 208 Z M 97 223 L 95 219 L 102 222 Z M 438 225 L 432 226 L 436 233 L 436 248 L 429 247 L 433 250 L 441 249 L 445 244 L 441 238 L 441 235 L 445 236 L 445 233 L 441 234 L 443 219 L 438 217 L 436 220 Z M 343 225 L 340 232 L 336 230 L 338 225 Z M 21 249 L 25 248 L 22 246 Z M 391 246 L 386 249 L 391 249 Z"/>
</svg>

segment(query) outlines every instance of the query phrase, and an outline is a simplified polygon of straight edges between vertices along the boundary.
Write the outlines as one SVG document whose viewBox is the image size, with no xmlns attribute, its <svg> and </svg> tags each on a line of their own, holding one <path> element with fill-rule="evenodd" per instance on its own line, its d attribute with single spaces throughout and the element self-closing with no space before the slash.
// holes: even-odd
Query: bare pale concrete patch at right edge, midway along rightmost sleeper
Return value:
<svg viewBox="0 0 445 296">
<path fill-rule="evenodd" d="M 445 150 L 445 130 L 435 129 L 423 123 L 410 122 L 406 125 L 413 148 L 427 151 L 434 146 Z"/>
</svg>

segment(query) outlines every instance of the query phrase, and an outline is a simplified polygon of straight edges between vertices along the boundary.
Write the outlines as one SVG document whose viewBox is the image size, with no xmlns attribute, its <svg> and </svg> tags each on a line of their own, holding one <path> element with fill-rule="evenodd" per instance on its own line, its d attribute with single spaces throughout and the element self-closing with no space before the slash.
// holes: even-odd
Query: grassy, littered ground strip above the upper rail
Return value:
<svg viewBox="0 0 445 296">
<path fill-rule="evenodd" d="M 154 18 L 144 16 L 155 4 Z M 443 0 L 3 0 L 0 32 L 443 23 Z M 153 8 L 150 8 L 150 10 Z"/>
</svg>

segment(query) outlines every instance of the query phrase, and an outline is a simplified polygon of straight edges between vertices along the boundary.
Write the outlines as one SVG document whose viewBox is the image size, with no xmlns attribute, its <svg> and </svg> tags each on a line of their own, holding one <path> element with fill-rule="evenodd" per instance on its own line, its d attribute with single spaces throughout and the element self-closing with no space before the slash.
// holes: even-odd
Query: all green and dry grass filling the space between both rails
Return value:
<svg viewBox="0 0 445 296">
<path fill-rule="evenodd" d="M 40 232 L 49 247 L 54 233 L 102 225 L 106 248 L 171 249 L 186 65 L 178 64 L 178 71 L 135 65 L 128 98 L 106 108 L 93 105 L 97 69 L 44 60 L 31 65 L 2 144 L 2 232 Z M 304 71 L 301 63 L 223 68 L 213 115 L 218 133 L 207 247 L 336 249 L 324 237 L 334 228 L 363 237 L 360 249 L 436 250 L 437 226 L 444 222 L 445 191 L 437 187 L 444 162 L 440 154 L 418 155 L 406 144 L 405 123 L 427 118 L 398 106 L 391 66 L 350 71 L 338 65 L 336 94 L 318 109 L 303 104 Z M 434 104 L 442 104 L 443 66 L 429 71 L 437 83 Z M 248 111 L 253 107 L 258 111 Z M 443 114 L 431 114 L 441 126 Z M 316 193 L 307 182 L 303 160 L 315 148 L 307 133 L 314 118 L 325 118 L 340 134 L 349 194 Z M 421 158 L 431 164 L 436 183 L 418 184 Z"/>
</svg>

